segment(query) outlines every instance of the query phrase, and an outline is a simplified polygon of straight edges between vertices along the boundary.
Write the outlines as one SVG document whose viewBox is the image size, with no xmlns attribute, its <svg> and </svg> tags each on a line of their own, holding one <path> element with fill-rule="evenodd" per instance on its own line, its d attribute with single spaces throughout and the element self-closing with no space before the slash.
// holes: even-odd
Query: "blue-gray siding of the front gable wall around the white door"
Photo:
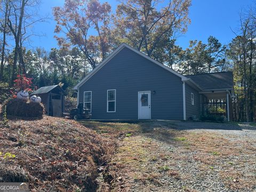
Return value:
<svg viewBox="0 0 256 192">
<path fill-rule="evenodd" d="M 115 113 L 107 113 L 110 89 Z M 151 119 L 183 119 L 181 78 L 127 48 L 79 87 L 79 102 L 84 91 L 92 91 L 92 119 L 138 119 L 138 91 L 151 91 Z"/>
</svg>

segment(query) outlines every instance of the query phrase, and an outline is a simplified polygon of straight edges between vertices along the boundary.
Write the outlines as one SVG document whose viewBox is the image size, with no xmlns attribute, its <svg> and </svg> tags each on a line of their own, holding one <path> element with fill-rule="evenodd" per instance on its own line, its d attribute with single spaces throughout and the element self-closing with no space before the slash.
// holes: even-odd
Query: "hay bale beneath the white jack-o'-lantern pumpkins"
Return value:
<svg viewBox="0 0 256 192">
<path fill-rule="evenodd" d="M 44 114 L 44 106 L 42 103 L 23 101 L 19 99 L 7 100 L 2 109 L 6 106 L 6 114 L 18 117 L 37 117 L 42 118 Z M 2 112 L 3 112 L 2 110 Z"/>
</svg>

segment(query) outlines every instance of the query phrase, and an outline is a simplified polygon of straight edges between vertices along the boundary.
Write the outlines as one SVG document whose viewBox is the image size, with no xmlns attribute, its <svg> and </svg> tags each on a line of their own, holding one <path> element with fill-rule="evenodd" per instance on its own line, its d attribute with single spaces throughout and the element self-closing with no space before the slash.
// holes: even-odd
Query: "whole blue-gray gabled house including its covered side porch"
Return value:
<svg viewBox="0 0 256 192">
<path fill-rule="evenodd" d="M 183 76 L 125 43 L 74 90 L 92 119 L 199 118 L 208 99 L 215 98 L 226 105 L 229 121 L 234 95 L 231 72 Z"/>
</svg>

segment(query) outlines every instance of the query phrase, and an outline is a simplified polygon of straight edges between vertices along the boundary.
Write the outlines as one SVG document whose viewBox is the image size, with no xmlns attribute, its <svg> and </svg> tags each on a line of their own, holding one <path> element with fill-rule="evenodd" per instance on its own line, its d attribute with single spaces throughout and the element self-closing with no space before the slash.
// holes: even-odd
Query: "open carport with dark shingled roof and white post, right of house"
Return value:
<svg viewBox="0 0 256 192">
<path fill-rule="evenodd" d="M 225 115 L 227 121 L 233 119 L 232 101 L 235 98 L 233 73 L 188 75 L 202 91 L 200 94 L 201 115 Z"/>
</svg>

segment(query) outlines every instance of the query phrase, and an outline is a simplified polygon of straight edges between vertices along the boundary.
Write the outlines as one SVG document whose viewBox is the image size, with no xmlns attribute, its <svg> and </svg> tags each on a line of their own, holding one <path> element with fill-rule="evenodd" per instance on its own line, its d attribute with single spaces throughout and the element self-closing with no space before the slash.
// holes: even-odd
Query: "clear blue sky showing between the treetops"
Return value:
<svg viewBox="0 0 256 192">
<path fill-rule="evenodd" d="M 41 16 L 49 15 L 51 19 L 46 23 L 37 23 L 35 32 L 44 36 L 32 37 L 28 45 L 30 49 L 44 47 L 46 51 L 50 51 L 51 47 L 58 47 L 53 37 L 55 21 L 52 16 L 52 7 L 61 6 L 63 3 L 64 0 L 42 1 L 38 13 Z M 108 3 L 111 4 L 112 11 L 115 11 L 118 2 L 108 1 Z M 206 42 L 210 35 L 217 37 L 222 44 L 228 44 L 235 36 L 231 29 L 236 30 L 239 25 L 239 12 L 254 3 L 254 0 L 192 0 L 189 11 L 191 24 L 188 26 L 187 33 L 178 38 L 177 44 L 186 48 L 189 40 L 198 39 Z"/>
</svg>

